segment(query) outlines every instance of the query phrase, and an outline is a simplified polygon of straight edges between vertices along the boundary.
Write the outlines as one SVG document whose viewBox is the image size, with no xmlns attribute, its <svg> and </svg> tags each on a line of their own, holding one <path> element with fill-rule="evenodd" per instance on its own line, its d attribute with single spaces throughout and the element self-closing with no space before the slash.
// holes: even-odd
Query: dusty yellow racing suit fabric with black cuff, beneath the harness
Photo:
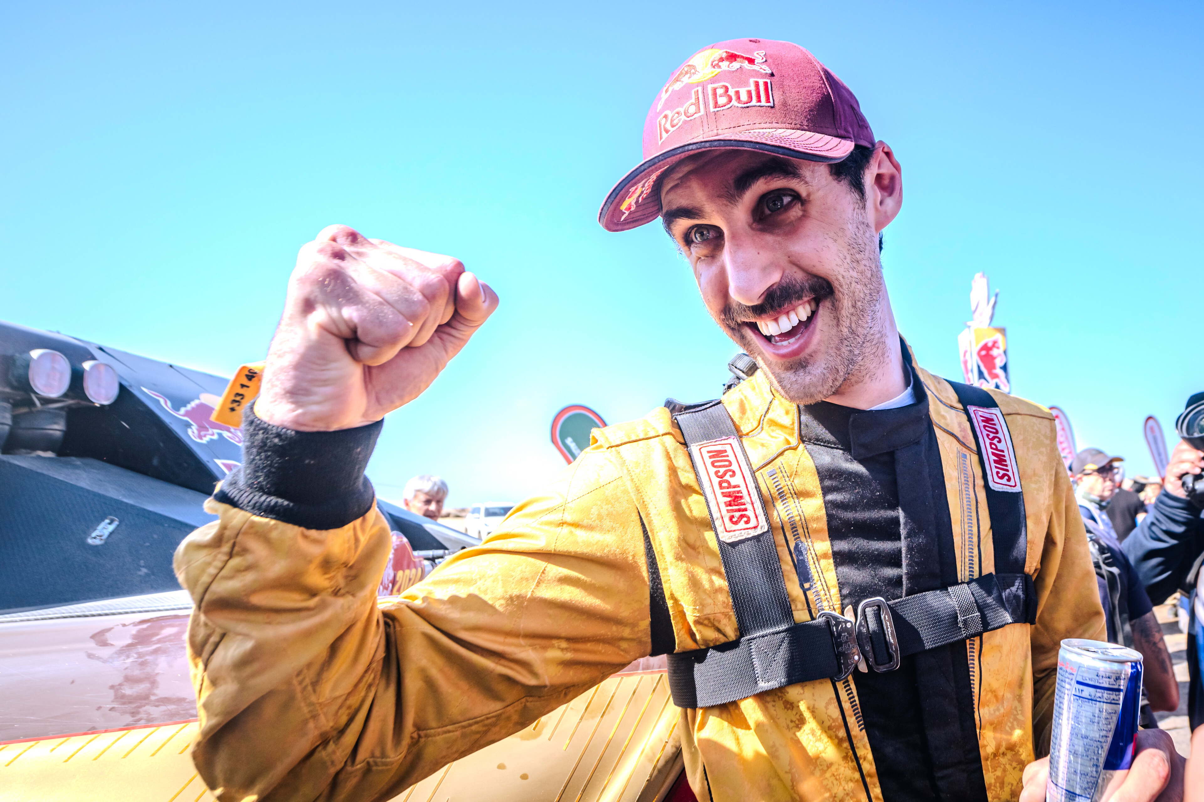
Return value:
<svg viewBox="0 0 1204 802">
<path fill-rule="evenodd" d="M 993 569 L 975 440 L 950 385 L 914 375 L 939 447 L 949 564 L 966 581 Z M 1011 800 L 1034 742 L 1047 743 L 1060 641 L 1102 638 L 1104 619 L 1052 416 L 992 394 L 1023 487 L 1035 623 L 960 642 L 954 665 L 964 673 L 969 709 L 958 715 L 979 786 L 985 798 Z M 834 525 L 799 408 L 762 374 L 722 400 L 769 511 L 796 622 L 811 613 L 784 525 L 801 518 L 818 559 L 811 582 L 843 610 Z M 208 506 L 219 519 L 177 552 L 196 602 L 194 760 L 220 800 L 389 798 L 649 654 L 645 529 L 675 649 L 739 635 L 707 506 L 665 408 L 595 430 L 555 487 L 383 611 L 389 528 L 362 479 L 378 428 L 306 434 L 248 421 L 254 470 L 236 491 L 219 489 Z M 698 797 L 883 800 L 856 687 L 805 682 L 683 709 Z"/>
</svg>

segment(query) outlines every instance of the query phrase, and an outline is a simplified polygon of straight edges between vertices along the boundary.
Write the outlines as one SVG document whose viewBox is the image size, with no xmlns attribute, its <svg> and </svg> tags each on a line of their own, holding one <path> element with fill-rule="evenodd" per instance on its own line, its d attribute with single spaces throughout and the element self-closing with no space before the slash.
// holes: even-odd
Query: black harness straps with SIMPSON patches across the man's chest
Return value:
<svg viewBox="0 0 1204 802">
<path fill-rule="evenodd" d="M 678 707 L 710 707 L 799 682 L 843 679 L 862 661 L 874 671 L 892 671 L 910 654 L 1034 620 L 1035 592 L 1023 572 L 1023 497 L 1007 424 L 990 393 L 954 387 L 970 416 L 988 476 L 997 572 L 892 601 L 867 599 L 856 618 L 825 611 L 799 624 L 790 608 L 756 476 L 727 410 L 719 400 L 673 410 L 707 499 L 740 630 L 740 637 L 728 643 L 668 655 L 669 689 Z M 972 406 L 993 410 L 982 416 L 981 428 Z M 980 438 L 998 438 L 999 442 L 986 440 L 996 451 L 1005 441 L 1010 463 L 986 462 L 995 451 L 984 450 Z M 996 474 L 988 475 L 991 469 Z M 1008 476 L 1015 491 L 998 489 Z"/>
</svg>

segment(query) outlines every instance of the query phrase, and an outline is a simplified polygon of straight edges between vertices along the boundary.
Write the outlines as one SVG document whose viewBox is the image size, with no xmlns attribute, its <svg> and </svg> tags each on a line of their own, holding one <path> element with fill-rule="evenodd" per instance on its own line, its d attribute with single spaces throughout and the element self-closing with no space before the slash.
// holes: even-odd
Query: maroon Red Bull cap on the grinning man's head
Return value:
<svg viewBox="0 0 1204 802">
<path fill-rule="evenodd" d="M 661 214 L 659 179 L 697 150 L 739 148 L 836 162 L 874 147 L 857 99 L 814 55 L 790 42 L 734 38 L 673 71 L 644 120 L 644 161 L 602 203 L 598 222 L 626 231 Z"/>
</svg>

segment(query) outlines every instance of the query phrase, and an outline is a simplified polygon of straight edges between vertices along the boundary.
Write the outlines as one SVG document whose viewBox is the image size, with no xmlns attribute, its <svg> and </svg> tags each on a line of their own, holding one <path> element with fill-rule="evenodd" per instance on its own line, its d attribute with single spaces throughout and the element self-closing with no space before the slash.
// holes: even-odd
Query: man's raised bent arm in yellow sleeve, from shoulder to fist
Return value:
<svg viewBox="0 0 1204 802">
<path fill-rule="evenodd" d="M 294 275 L 272 392 L 247 412 L 243 468 L 209 503 L 219 519 L 176 554 L 196 604 L 193 756 L 223 801 L 389 798 L 649 650 L 639 518 L 598 448 L 486 545 L 377 608 L 390 535 L 362 474 L 373 421 L 429 385 L 496 298 L 462 268 L 433 271 L 442 301 L 437 281 L 414 290 L 430 268 L 401 259 L 338 268 L 324 260 L 394 257 L 331 236 L 302 250 L 321 263 Z M 406 293 L 444 322 L 400 313 Z M 413 335 L 393 347 L 368 328 Z"/>
</svg>

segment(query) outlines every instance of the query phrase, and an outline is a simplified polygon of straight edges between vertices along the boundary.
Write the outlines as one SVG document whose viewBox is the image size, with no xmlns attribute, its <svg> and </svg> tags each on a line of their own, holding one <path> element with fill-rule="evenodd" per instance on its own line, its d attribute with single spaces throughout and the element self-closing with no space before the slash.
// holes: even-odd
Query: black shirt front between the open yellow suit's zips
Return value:
<svg viewBox="0 0 1204 802">
<path fill-rule="evenodd" d="M 840 604 L 854 611 L 873 596 L 957 582 L 928 397 L 919 380 L 913 386 L 917 402 L 893 410 L 799 409 Z M 903 658 L 896 671 L 854 671 L 851 679 L 885 802 L 986 798 L 964 643 Z"/>
</svg>

